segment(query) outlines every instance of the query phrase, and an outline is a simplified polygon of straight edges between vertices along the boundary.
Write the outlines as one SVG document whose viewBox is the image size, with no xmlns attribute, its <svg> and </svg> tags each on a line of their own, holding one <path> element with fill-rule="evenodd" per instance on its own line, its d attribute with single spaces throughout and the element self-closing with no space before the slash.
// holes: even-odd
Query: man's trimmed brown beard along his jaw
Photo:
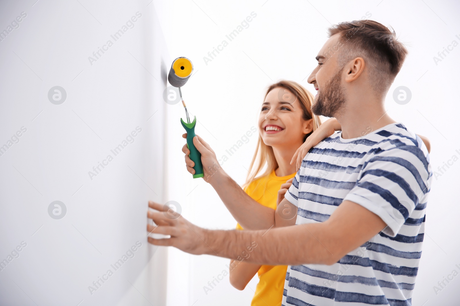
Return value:
<svg viewBox="0 0 460 306">
<path fill-rule="evenodd" d="M 342 70 L 323 86 L 315 98 L 311 111 L 318 116 L 336 117 L 345 106 L 345 89 L 340 85 Z"/>
</svg>

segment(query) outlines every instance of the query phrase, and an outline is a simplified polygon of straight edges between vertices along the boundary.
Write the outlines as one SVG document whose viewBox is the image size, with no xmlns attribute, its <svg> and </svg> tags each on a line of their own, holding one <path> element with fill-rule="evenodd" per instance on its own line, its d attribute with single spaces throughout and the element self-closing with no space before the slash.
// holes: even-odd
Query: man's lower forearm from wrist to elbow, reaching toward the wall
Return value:
<svg viewBox="0 0 460 306">
<path fill-rule="evenodd" d="M 324 240 L 322 228 L 321 223 L 311 223 L 257 231 L 205 230 L 204 250 L 205 254 L 257 264 L 332 264 L 335 256 L 320 242 Z"/>
</svg>

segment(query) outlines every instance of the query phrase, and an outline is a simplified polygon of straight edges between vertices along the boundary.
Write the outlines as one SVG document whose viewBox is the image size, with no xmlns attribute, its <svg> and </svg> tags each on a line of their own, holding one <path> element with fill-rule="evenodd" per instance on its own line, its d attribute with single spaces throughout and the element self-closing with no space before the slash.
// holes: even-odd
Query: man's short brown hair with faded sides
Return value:
<svg viewBox="0 0 460 306">
<path fill-rule="evenodd" d="M 328 28 L 328 34 L 328 37 L 340 35 L 340 69 L 348 61 L 362 57 L 369 64 L 374 90 L 386 94 L 408 54 L 395 31 L 374 20 L 355 20 Z"/>
</svg>

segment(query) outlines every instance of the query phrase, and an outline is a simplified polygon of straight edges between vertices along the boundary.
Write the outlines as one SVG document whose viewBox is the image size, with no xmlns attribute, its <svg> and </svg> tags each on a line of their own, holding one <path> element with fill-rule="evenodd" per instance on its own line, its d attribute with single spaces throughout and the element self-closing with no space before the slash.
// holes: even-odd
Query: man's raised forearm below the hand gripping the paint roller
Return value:
<svg viewBox="0 0 460 306">
<path fill-rule="evenodd" d="M 210 184 L 244 229 L 267 229 L 275 224 L 275 211 L 253 200 L 226 173 L 215 173 Z"/>
</svg>

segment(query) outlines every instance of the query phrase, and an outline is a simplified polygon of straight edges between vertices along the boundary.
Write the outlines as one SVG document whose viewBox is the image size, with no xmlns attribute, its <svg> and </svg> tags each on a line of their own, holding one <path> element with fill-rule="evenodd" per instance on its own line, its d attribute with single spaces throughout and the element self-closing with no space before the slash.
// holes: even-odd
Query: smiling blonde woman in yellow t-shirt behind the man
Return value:
<svg viewBox="0 0 460 306">
<path fill-rule="evenodd" d="M 244 191 L 261 205 L 275 210 L 278 190 L 295 176 L 292 156 L 320 124 L 310 110 L 313 100 L 309 91 L 292 81 L 281 81 L 267 89 L 258 122 L 259 140 L 243 185 Z M 236 228 L 243 229 L 239 224 Z M 239 290 L 258 274 L 252 306 L 281 305 L 287 266 L 231 260 L 230 267 L 234 267 L 230 269 L 230 283 Z"/>
</svg>

